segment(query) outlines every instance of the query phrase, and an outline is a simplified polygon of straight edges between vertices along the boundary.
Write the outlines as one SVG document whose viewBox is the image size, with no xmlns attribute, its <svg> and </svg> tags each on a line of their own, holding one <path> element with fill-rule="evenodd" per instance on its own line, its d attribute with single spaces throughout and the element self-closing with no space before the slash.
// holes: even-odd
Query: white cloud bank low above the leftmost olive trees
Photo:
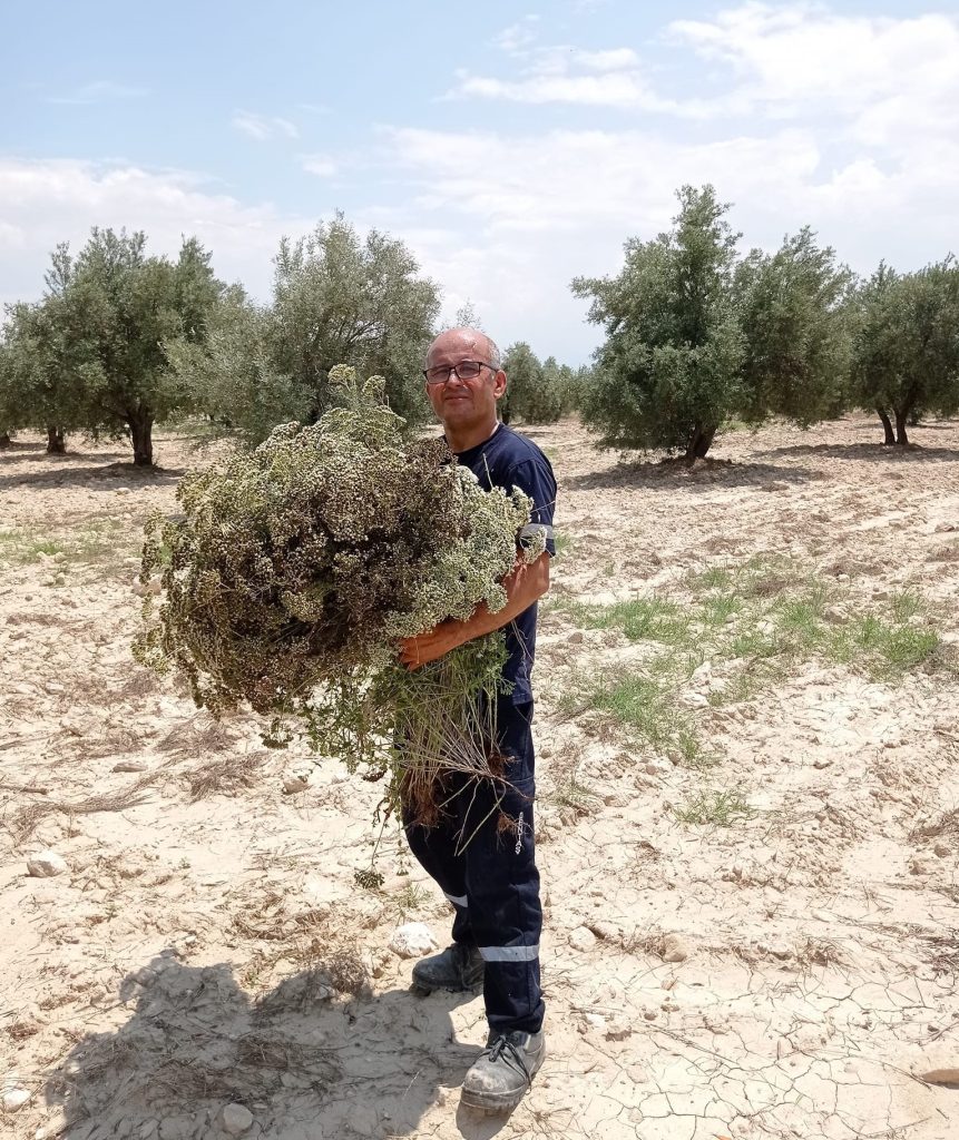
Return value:
<svg viewBox="0 0 959 1140">
<path fill-rule="evenodd" d="M 50 252 L 64 241 L 78 249 L 91 226 L 143 229 L 153 253 L 176 254 L 181 237 L 195 234 L 220 277 L 266 298 L 279 238 L 316 220 L 244 205 L 182 171 L 0 158 L 0 302 L 38 298 Z"/>
</svg>

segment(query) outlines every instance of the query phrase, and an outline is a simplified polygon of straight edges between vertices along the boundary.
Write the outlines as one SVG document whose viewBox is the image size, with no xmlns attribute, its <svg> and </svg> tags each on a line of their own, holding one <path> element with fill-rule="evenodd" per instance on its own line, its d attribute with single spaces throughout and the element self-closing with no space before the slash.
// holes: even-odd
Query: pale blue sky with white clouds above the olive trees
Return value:
<svg viewBox="0 0 959 1140">
<path fill-rule="evenodd" d="M 270 296 L 341 210 L 502 347 L 586 363 L 569 290 L 712 182 L 743 252 L 959 253 L 959 2 L 0 0 L 0 301 L 91 226 Z"/>
</svg>

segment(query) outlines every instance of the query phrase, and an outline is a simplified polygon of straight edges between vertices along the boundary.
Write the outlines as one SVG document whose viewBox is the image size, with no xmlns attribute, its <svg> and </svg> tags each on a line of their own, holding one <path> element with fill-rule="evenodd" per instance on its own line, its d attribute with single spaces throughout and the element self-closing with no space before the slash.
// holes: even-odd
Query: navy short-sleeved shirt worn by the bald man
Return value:
<svg viewBox="0 0 959 1140">
<path fill-rule="evenodd" d="M 533 499 L 530 526 L 517 536 L 522 544 L 538 528 L 546 529 L 546 549 L 555 554 L 553 543 L 553 507 L 556 502 L 556 480 L 550 461 L 525 435 L 501 423 L 496 431 L 456 458 L 479 479 L 480 487 L 489 490 L 502 487 L 505 491 L 519 488 Z M 503 676 L 513 685 L 514 705 L 533 700 L 529 674 L 536 652 L 536 603 L 523 610 L 506 626 L 506 649 L 510 653 Z"/>
</svg>

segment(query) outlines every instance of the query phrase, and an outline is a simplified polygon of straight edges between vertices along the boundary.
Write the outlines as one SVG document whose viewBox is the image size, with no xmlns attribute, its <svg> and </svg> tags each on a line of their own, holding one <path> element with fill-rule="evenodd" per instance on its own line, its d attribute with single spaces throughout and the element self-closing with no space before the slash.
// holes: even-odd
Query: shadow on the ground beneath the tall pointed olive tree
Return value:
<svg viewBox="0 0 959 1140">
<path fill-rule="evenodd" d="M 767 453 L 774 454 L 774 453 Z M 774 490 L 778 483 L 807 483 L 822 479 L 821 471 L 810 467 L 785 467 L 774 463 L 738 463 L 707 456 L 690 465 L 683 459 L 648 459 L 619 463 L 602 471 L 587 471 L 562 480 L 562 489 L 570 491 L 603 490 L 642 487 L 645 490 L 690 494 L 723 487 L 765 487 Z"/>
</svg>

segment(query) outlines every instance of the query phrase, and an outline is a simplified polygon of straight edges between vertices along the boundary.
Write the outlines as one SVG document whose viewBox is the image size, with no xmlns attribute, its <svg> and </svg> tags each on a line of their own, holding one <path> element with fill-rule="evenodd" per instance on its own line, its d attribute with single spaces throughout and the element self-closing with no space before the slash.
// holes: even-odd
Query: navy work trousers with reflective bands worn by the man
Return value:
<svg viewBox="0 0 959 1140">
<path fill-rule="evenodd" d="M 409 847 L 453 903 L 453 939 L 478 946 L 486 963 L 483 1000 L 490 1029 L 538 1033 L 539 872 L 534 857 L 533 701 L 501 698 L 496 735 L 504 781 L 444 780 L 444 815 L 430 828 L 404 813 Z M 515 821 L 504 828 L 502 816 Z"/>
</svg>

